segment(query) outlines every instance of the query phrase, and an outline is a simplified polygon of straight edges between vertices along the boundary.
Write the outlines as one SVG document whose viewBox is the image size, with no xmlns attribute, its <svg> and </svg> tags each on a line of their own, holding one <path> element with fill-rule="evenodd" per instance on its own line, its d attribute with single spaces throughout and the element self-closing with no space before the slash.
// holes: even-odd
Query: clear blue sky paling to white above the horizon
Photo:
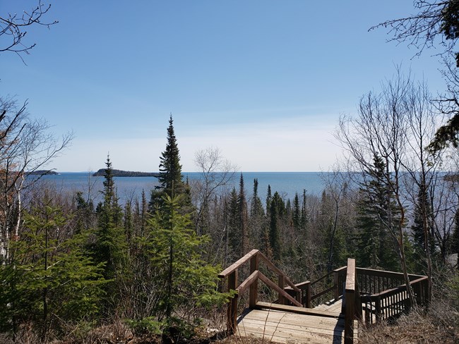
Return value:
<svg viewBox="0 0 459 344">
<path fill-rule="evenodd" d="M 0 11 L 35 1 L 2 1 Z M 390 1 L 52 1 L 25 56 L 0 56 L 0 95 L 76 138 L 49 166 L 157 171 L 169 113 L 184 171 L 219 147 L 242 171 L 328 170 L 332 132 L 395 64 L 444 89 L 435 51 L 417 58 L 369 27 L 415 12 Z"/>
</svg>

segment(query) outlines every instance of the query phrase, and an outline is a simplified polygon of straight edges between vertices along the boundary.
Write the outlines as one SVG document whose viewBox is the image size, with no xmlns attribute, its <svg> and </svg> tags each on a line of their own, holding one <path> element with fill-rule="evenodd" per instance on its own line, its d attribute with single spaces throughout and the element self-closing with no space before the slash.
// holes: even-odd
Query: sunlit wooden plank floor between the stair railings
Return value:
<svg viewBox="0 0 459 344">
<path fill-rule="evenodd" d="M 235 335 L 274 343 L 344 343 L 341 300 L 316 309 L 282 305 L 272 305 L 270 309 L 269 305 L 259 302 L 257 308 L 260 309 L 246 309 L 238 319 Z M 357 324 L 355 326 L 357 329 Z"/>
</svg>

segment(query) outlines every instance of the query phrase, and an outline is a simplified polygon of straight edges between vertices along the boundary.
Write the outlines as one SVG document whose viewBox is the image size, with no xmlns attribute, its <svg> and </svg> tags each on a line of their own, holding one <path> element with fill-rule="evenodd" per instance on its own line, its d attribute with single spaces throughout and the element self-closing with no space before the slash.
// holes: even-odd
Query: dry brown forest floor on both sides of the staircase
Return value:
<svg viewBox="0 0 459 344">
<path fill-rule="evenodd" d="M 459 295 L 458 295 L 459 296 Z M 212 324 L 208 324 L 211 326 Z M 226 336 L 222 324 L 216 328 L 205 326 L 197 328 L 196 336 L 189 340 L 168 340 L 161 336 L 134 336 L 126 324 L 112 324 L 90 329 L 90 331 L 69 331 L 63 340 L 52 340 L 48 344 L 261 344 L 269 340 Z M 70 328 L 69 328 L 70 330 Z M 359 343 L 459 343 L 459 313 L 455 307 L 441 302 L 434 302 L 429 312 L 413 310 L 393 323 L 382 323 L 376 326 L 362 326 L 359 330 Z M 36 344 L 42 343 L 31 331 L 25 331 L 21 338 L 13 342 L 0 334 L 2 344 Z"/>
</svg>

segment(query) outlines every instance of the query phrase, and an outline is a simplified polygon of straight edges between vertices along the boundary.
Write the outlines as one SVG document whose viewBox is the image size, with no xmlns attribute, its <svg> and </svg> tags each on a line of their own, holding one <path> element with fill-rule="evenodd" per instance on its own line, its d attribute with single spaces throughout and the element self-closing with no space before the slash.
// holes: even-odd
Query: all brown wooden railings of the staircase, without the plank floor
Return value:
<svg viewBox="0 0 459 344">
<path fill-rule="evenodd" d="M 260 261 L 263 261 L 270 271 L 278 275 L 277 284 L 259 271 L 258 264 Z M 238 269 L 246 262 L 250 262 L 250 276 L 238 285 Z M 311 285 L 322 281 L 332 274 L 333 286 L 322 290 L 316 295 L 312 295 Z M 428 278 L 427 276 L 415 274 L 410 274 L 408 276 L 412 288 L 415 290 L 417 302 L 419 305 L 422 305 L 426 300 L 429 300 L 429 288 L 426 285 Z M 406 285 L 400 284 L 394 288 L 394 285 L 397 285 L 396 283 L 400 283 L 403 274 L 393 271 L 357 268 L 357 266 L 355 266 L 355 259 L 347 259 L 347 266 L 335 269 L 314 282 L 306 281 L 295 285 L 273 264 L 273 262 L 270 262 L 263 253 L 259 250 L 251 250 L 251 252 L 247 253 L 244 257 L 218 274 L 218 277 L 227 278 L 228 291 L 235 290 L 237 292 L 236 295 L 229 300 L 227 308 L 228 331 L 230 333 L 234 333 L 237 327 L 237 300 L 239 295 L 244 293 L 247 289 L 250 289 L 249 307 L 257 307 L 259 303 L 257 301 L 258 280 L 278 292 L 278 302 L 280 304 L 291 302 L 295 306 L 302 307 L 302 303 L 299 302 L 302 301 L 306 307 L 311 307 L 311 300 L 326 293 L 330 293 L 330 291 L 334 290 L 335 300 L 338 300 L 338 297 L 343 295 L 342 307 L 345 312 L 345 344 L 352 343 L 353 341 L 354 320 L 362 319 L 363 307 L 365 307 L 365 318 L 366 320 L 369 319 L 370 322 L 373 322 L 373 317 L 375 315 L 376 321 L 378 321 L 380 319 L 395 317 L 400 314 L 400 312 L 406 312 L 407 309 L 410 309 L 409 300 L 404 294 L 406 292 Z M 359 281 L 364 283 L 362 288 L 364 288 L 364 292 L 369 293 L 369 295 L 360 297 Z M 367 288 L 366 283 L 369 283 L 369 288 Z M 388 287 L 389 289 L 379 291 Z M 378 293 L 375 293 L 376 291 Z"/>
</svg>

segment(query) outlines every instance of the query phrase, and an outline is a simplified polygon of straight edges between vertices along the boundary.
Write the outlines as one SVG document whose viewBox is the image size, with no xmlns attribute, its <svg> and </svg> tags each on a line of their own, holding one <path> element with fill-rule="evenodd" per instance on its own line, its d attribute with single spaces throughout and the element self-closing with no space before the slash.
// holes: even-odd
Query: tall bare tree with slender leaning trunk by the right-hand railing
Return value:
<svg viewBox="0 0 459 344">
<path fill-rule="evenodd" d="M 384 225 L 397 244 L 400 266 L 413 305 L 415 297 L 407 275 L 405 257 L 408 204 L 403 178 L 406 174 L 416 176 L 419 185 L 424 185 L 424 188 L 427 183 L 429 160 L 424 156 L 423 146 L 429 140 L 424 140 L 424 135 L 428 135 L 425 124 L 431 121 L 434 112 L 428 106 L 429 99 L 426 96 L 423 87 L 415 85 L 410 75 L 405 78 L 398 70 L 393 80 L 383 82 L 380 93 L 369 92 L 360 99 L 357 116 L 342 116 L 336 133 L 353 163 L 354 171 L 373 171 L 374 156 L 381 156 L 385 163 L 386 173 L 378 177 L 381 178 L 378 182 L 385 185 L 388 195 L 393 195 L 398 221 L 393 221 L 395 214 L 388 199 L 388 220 L 384 221 Z M 427 223 L 425 225 L 427 231 Z"/>
</svg>

